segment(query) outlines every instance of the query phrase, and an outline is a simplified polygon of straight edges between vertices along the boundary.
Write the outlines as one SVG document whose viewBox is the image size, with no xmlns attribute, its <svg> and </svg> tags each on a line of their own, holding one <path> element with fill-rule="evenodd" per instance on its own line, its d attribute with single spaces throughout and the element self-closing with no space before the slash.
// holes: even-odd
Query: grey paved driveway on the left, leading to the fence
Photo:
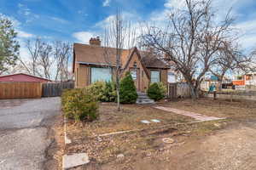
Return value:
<svg viewBox="0 0 256 170">
<path fill-rule="evenodd" d="M 58 114 L 60 98 L 0 100 L 0 169 L 44 169 Z"/>
</svg>

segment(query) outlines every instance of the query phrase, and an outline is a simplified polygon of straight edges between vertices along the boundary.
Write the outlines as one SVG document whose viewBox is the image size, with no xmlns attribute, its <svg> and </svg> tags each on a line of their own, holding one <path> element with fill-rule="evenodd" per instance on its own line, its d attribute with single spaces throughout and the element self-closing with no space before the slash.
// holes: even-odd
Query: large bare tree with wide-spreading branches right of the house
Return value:
<svg viewBox="0 0 256 170">
<path fill-rule="evenodd" d="M 170 12 L 166 29 L 148 26 L 142 43 L 175 64 L 196 99 L 203 76 L 219 59 L 217 53 L 222 42 L 231 39 L 233 19 L 228 13 L 224 21 L 217 23 L 211 0 L 184 1 L 184 8 Z"/>
</svg>

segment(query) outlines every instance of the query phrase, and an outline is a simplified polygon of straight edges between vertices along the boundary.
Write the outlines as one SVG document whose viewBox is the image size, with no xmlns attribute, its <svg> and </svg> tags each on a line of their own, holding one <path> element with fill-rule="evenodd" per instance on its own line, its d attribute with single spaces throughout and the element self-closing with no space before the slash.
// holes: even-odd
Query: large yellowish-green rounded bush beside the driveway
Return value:
<svg viewBox="0 0 256 170">
<path fill-rule="evenodd" d="M 76 88 L 63 92 L 61 104 L 64 115 L 69 119 L 93 121 L 98 115 L 98 103 L 88 88 Z"/>
</svg>

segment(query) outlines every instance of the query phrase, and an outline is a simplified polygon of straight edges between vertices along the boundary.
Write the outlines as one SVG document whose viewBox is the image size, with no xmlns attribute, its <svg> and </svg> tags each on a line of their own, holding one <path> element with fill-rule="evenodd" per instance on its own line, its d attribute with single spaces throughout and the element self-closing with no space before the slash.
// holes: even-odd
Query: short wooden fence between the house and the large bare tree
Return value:
<svg viewBox="0 0 256 170">
<path fill-rule="evenodd" d="M 168 98 L 177 99 L 189 97 L 191 97 L 191 91 L 187 83 L 177 82 L 168 84 Z"/>
</svg>

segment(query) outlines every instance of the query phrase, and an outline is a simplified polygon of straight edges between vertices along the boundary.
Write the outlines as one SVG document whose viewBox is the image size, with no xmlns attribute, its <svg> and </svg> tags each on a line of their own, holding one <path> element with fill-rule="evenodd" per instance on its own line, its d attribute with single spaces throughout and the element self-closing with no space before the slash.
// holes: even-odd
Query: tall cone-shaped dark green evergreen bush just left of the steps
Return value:
<svg viewBox="0 0 256 170">
<path fill-rule="evenodd" d="M 137 100 L 137 91 L 130 72 L 120 81 L 120 103 L 133 104 Z"/>
</svg>

